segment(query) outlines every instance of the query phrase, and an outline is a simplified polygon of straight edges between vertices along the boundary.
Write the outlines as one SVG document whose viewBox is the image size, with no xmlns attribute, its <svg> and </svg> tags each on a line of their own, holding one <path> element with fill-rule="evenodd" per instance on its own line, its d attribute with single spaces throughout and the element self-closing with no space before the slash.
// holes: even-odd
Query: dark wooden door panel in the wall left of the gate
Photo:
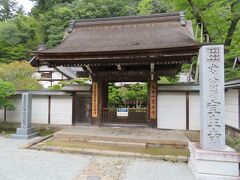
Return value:
<svg viewBox="0 0 240 180">
<path fill-rule="evenodd" d="M 76 96 L 75 123 L 91 123 L 91 98 Z"/>
</svg>

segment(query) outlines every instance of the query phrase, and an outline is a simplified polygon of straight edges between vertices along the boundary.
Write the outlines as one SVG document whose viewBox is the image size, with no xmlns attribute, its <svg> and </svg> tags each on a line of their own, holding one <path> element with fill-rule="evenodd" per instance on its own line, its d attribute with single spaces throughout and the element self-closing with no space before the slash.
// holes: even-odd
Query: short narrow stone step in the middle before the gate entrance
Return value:
<svg viewBox="0 0 240 180">
<path fill-rule="evenodd" d="M 89 140 L 88 144 L 100 145 L 100 146 L 115 146 L 124 148 L 146 148 L 146 143 L 135 142 L 116 142 L 116 141 L 103 141 L 103 140 Z"/>
</svg>

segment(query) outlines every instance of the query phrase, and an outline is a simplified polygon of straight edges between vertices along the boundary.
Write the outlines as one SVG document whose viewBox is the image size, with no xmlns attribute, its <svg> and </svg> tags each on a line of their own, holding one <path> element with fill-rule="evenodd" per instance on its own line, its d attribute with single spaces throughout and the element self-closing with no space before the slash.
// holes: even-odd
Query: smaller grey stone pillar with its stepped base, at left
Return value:
<svg viewBox="0 0 240 180">
<path fill-rule="evenodd" d="M 21 109 L 21 127 L 17 128 L 16 134 L 12 135 L 15 139 L 30 139 L 37 136 L 37 132 L 31 128 L 32 116 L 32 95 L 29 93 L 22 94 Z"/>
</svg>

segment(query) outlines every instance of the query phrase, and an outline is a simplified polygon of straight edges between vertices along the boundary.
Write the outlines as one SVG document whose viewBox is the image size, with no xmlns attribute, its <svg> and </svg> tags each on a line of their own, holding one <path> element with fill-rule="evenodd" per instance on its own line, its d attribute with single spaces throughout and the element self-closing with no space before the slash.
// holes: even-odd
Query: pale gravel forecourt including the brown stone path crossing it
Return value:
<svg viewBox="0 0 240 180">
<path fill-rule="evenodd" d="M 0 137 L 3 180 L 192 180 L 187 164 L 44 152 L 19 147 L 33 140 Z"/>
</svg>

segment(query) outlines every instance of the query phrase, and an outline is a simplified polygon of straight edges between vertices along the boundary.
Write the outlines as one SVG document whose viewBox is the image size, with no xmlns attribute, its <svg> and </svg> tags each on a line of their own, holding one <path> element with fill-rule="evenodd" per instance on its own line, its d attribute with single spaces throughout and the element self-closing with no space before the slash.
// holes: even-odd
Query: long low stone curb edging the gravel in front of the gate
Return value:
<svg viewBox="0 0 240 180">
<path fill-rule="evenodd" d="M 31 149 L 51 151 L 51 152 L 60 152 L 60 153 L 94 155 L 94 156 L 107 156 L 107 157 L 110 156 L 110 157 L 123 157 L 123 158 L 164 160 L 164 161 L 181 162 L 181 163 L 188 162 L 187 156 L 150 155 L 150 154 L 119 152 L 119 151 L 106 151 L 106 150 L 96 150 L 96 149 L 76 149 L 76 148 L 51 147 L 51 146 L 46 146 L 46 145 L 42 146 L 42 147 L 33 146 Z"/>
</svg>

